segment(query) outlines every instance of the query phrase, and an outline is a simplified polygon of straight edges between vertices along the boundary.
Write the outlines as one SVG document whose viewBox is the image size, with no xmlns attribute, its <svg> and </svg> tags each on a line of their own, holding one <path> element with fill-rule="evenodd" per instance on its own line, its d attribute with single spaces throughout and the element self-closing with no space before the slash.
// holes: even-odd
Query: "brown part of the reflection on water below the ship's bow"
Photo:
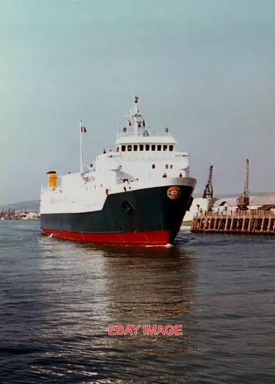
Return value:
<svg viewBox="0 0 275 384">
<path fill-rule="evenodd" d="M 107 250 L 104 256 L 109 314 L 116 323 L 175 322 L 175 316 L 191 311 L 195 272 L 189 252 L 178 247 Z"/>
</svg>

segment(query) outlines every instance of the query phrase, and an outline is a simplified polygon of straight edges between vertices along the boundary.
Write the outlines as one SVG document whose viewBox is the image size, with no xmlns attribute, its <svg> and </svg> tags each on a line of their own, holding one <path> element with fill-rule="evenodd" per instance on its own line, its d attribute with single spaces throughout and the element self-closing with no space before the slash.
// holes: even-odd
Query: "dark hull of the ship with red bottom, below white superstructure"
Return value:
<svg viewBox="0 0 275 384">
<path fill-rule="evenodd" d="M 172 198 L 168 197 L 168 189 L 169 186 L 159 186 L 110 194 L 107 195 L 102 210 L 95 212 L 41 214 L 41 228 L 48 235 L 52 233 L 56 237 L 87 242 L 127 241 L 136 244 L 140 242 L 138 234 L 155 233 L 157 237 L 163 238 L 155 239 L 155 236 L 152 244 L 173 243 L 193 188 L 179 185 L 179 195 L 172 195 Z M 94 236 L 79 237 L 77 234 Z M 123 237 L 121 234 L 132 235 Z M 118 235 L 117 241 L 114 235 Z M 150 244 L 149 237 L 148 241 L 144 240 L 142 243 Z"/>
</svg>

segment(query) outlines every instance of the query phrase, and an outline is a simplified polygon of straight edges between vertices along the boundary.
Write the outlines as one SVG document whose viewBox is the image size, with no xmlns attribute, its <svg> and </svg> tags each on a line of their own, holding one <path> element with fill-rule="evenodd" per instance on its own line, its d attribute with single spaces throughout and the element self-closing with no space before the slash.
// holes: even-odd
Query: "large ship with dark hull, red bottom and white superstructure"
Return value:
<svg viewBox="0 0 275 384">
<path fill-rule="evenodd" d="M 152 131 L 134 96 L 115 149 L 83 163 L 86 126 L 79 123 L 80 172 L 47 172 L 41 187 L 45 235 L 94 244 L 173 244 L 192 203 L 196 179 L 189 154 L 178 152 L 169 128 Z"/>
</svg>

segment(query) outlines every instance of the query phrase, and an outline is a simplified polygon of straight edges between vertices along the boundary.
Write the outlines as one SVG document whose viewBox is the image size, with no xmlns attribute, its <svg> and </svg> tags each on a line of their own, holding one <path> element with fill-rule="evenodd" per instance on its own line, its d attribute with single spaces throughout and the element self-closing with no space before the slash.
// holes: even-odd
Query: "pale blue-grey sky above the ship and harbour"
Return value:
<svg viewBox="0 0 275 384">
<path fill-rule="evenodd" d="M 275 191 L 275 1 L 0 0 L 0 203 L 113 149 L 132 93 L 203 192 Z M 119 119 L 118 119 L 119 116 Z"/>
</svg>

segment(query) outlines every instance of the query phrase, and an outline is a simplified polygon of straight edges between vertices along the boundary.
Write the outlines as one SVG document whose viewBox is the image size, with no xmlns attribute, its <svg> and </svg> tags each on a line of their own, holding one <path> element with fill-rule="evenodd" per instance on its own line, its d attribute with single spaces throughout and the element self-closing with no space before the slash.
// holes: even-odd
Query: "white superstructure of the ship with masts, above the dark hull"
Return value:
<svg viewBox="0 0 275 384">
<path fill-rule="evenodd" d="M 95 158 L 81 172 L 58 176 L 58 183 L 42 186 L 40 213 L 79 213 L 102 209 L 107 195 L 155 186 L 186 185 L 189 178 L 189 154 L 175 149 L 177 142 L 168 128 L 151 131 L 139 110 L 138 98 L 126 116 L 128 127 L 118 133 L 115 151 Z M 82 126 L 80 138 L 82 140 Z M 84 128 L 86 131 L 86 128 Z"/>
</svg>

